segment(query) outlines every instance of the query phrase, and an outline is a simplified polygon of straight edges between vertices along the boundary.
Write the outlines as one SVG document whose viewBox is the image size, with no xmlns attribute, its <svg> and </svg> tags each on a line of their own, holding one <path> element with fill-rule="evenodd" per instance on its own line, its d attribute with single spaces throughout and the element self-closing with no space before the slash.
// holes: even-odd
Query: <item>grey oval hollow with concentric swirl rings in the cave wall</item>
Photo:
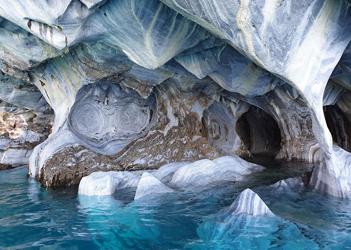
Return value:
<svg viewBox="0 0 351 250">
<path fill-rule="evenodd" d="M 140 137 L 153 124 L 156 100 L 144 100 L 114 83 L 84 86 L 76 96 L 68 124 L 83 145 L 113 154 Z"/>
</svg>

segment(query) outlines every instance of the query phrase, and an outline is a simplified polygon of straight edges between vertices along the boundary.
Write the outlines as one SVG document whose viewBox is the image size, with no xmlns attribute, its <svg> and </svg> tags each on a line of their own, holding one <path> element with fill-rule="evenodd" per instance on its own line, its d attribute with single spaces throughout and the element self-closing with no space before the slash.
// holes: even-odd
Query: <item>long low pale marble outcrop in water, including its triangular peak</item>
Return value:
<svg viewBox="0 0 351 250">
<path fill-rule="evenodd" d="M 157 170 L 97 171 L 82 177 L 78 193 L 84 195 L 109 195 L 117 189 L 137 187 L 135 199 L 154 193 L 173 192 L 172 186 L 202 186 L 219 182 L 241 181 L 264 167 L 246 162 L 240 157 L 223 156 L 214 160 L 174 162 Z M 77 178 L 78 179 L 78 178 Z"/>
</svg>

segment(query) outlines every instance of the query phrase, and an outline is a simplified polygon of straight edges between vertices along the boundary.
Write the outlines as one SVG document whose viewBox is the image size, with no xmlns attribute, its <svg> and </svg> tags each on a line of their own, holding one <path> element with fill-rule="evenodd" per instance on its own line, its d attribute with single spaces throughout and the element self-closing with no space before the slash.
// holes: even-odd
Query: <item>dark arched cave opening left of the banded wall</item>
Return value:
<svg viewBox="0 0 351 250">
<path fill-rule="evenodd" d="M 262 109 L 251 106 L 237 121 L 236 132 L 253 156 L 274 158 L 281 135 L 276 121 Z"/>
</svg>

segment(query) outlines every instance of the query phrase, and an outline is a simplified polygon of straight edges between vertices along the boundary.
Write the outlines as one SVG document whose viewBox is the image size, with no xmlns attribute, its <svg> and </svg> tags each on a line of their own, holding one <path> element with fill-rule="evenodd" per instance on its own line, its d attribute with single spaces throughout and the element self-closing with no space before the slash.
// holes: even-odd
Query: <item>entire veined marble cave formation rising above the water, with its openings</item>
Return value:
<svg viewBox="0 0 351 250">
<path fill-rule="evenodd" d="M 263 155 L 320 162 L 311 185 L 351 197 L 350 10 L 349 0 L 4 0 L 0 111 L 19 125 L 1 125 L 0 163 L 31 155 L 30 176 L 70 186 L 96 171 Z"/>
</svg>

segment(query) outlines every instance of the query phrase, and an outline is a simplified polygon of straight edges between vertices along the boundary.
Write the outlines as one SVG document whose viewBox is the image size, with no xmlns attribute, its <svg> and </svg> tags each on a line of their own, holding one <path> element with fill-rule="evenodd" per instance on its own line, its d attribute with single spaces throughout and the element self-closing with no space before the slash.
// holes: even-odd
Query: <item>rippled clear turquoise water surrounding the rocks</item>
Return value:
<svg viewBox="0 0 351 250">
<path fill-rule="evenodd" d="M 240 183 L 178 189 L 133 201 L 135 189 L 113 196 L 78 196 L 77 188 L 45 189 L 27 168 L 0 171 L 0 248 L 49 249 L 343 249 L 351 247 L 351 203 L 310 188 L 267 185 L 312 165 L 268 167 Z M 275 217 L 228 216 L 246 187 Z"/>
</svg>

